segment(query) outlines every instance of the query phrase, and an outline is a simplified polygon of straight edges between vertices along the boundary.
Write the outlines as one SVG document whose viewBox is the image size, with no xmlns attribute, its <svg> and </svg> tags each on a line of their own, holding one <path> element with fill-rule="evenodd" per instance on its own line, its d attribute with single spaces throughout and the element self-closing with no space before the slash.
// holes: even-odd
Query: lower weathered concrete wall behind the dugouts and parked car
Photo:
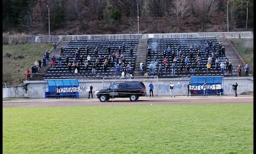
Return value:
<svg viewBox="0 0 256 154">
<path fill-rule="evenodd" d="M 93 93 L 96 89 L 101 89 L 108 87 L 110 81 L 102 82 L 102 80 L 83 80 L 78 79 L 79 87 L 89 87 L 90 84 L 94 87 Z M 154 94 L 156 95 L 169 95 L 169 83 L 173 82 L 174 91 L 177 94 L 185 95 L 187 94 L 187 83 L 190 81 L 190 78 L 160 78 L 158 80 L 158 88 L 154 89 Z M 152 82 L 156 87 L 157 81 L 144 81 L 143 83 L 146 86 L 146 92 L 149 94 L 149 83 Z M 238 83 L 238 94 L 241 92 L 253 92 L 253 77 L 224 77 L 224 93 L 233 94 L 231 89 L 232 83 Z M 5 97 L 16 97 L 16 96 L 29 96 L 33 98 L 44 98 L 45 89 L 44 81 L 24 81 L 24 86 L 15 86 L 15 87 L 3 87 L 3 98 Z M 47 83 L 46 83 L 47 85 Z M 48 87 L 46 87 L 48 91 Z M 79 92 L 79 97 L 88 97 L 88 91 Z"/>
</svg>

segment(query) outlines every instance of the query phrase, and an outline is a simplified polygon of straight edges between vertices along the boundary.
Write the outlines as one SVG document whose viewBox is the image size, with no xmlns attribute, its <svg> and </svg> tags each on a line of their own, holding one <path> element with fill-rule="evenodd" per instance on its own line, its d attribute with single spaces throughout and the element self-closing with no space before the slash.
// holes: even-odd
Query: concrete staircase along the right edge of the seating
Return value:
<svg viewBox="0 0 256 154">
<path fill-rule="evenodd" d="M 238 65 L 241 65 L 242 71 L 243 71 L 245 66 L 242 66 L 242 64 L 239 62 L 238 57 L 233 52 L 233 50 L 231 49 L 231 47 L 227 43 L 226 39 L 221 38 L 221 39 L 218 39 L 218 41 L 220 41 L 222 46 L 226 49 L 226 51 L 225 51 L 226 58 L 228 58 L 228 61 L 231 62 L 233 70 L 237 71 Z"/>
</svg>

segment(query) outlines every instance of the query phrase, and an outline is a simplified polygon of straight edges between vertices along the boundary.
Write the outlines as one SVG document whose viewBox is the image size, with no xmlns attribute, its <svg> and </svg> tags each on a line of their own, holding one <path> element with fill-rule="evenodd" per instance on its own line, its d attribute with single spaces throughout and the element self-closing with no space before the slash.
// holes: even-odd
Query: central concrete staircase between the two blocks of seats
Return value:
<svg viewBox="0 0 256 154">
<path fill-rule="evenodd" d="M 147 46 L 147 39 L 139 39 L 136 53 L 137 58 L 135 61 L 134 76 L 142 76 L 139 63 L 143 62 L 145 67 L 147 67 Z"/>
</svg>

